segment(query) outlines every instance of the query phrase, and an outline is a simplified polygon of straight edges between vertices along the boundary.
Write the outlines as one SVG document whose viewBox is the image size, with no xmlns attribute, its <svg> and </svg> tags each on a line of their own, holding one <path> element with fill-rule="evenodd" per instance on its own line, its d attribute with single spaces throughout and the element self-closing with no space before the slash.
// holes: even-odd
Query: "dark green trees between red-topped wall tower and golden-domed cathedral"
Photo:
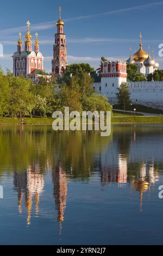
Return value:
<svg viewBox="0 0 163 256">
<path fill-rule="evenodd" d="M 136 64 L 127 63 L 127 78 L 132 82 L 147 81 L 146 76 L 138 73 L 139 67 Z"/>
</svg>

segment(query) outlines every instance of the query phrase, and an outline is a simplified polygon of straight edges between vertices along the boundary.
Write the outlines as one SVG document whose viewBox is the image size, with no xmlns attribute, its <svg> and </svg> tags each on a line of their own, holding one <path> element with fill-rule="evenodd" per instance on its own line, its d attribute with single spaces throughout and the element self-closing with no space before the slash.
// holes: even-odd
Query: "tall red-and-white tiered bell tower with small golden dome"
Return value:
<svg viewBox="0 0 163 256">
<path fill-rule="evenodd" d="M 64 21 L 61 20 L 61 8 L 59 8 L 59 20 L 56 22 L 57 34 L 53 46 L 52 75 L 61 78 L 65 74 L 67 62 L 66 35 L 64 34 Z"/>
</svg>

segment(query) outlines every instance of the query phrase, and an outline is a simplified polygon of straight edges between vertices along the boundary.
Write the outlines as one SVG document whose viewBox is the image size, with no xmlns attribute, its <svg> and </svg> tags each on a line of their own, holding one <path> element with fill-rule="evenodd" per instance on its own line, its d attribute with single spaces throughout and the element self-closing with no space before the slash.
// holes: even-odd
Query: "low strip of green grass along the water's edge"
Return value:
<svg viewBox="0 0 163 256">
<path fill-rule="evenodd" d="M 53 118 L 24 118 L 26 125 L 52 125 L 53 120 Z M 163 124 L 163 117 L 134 117 L 124 115 L 121 117 L 112 117 L 112 123 Z M 0 118 L 0 126 L 2 125 L 21 125 L 21 121 L 16 118 Z"/>
</svg>

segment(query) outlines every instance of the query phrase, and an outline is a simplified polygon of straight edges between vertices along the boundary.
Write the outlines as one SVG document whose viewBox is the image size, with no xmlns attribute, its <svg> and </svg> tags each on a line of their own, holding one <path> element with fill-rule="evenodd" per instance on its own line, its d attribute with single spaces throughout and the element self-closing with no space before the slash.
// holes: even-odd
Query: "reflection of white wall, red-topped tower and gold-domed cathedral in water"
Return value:
<svg viewBox="0 0 163 256">
<path fill-rule="evenodd" d="M 139 130 L 138 130 L 139 131 Z M 149 147 L 155 132 L 151 130 L 151 141 L 143 143 L 141 133 L 134 127 L 122 135 L 118 130 L 114 131 L 114 139 L 111 147 L 100 156 L 101 184 L 117 184 L 122 187 L 129 182 L 131 188 L 140 192 L 140 209 L 142 210 L 143 193 L 154 190 L 154 185 L 159 181 L 159 173 L 154 163 L 163 153 L 161 144 L 156 152 Z M 131 133 L 130 133 L 131 132 Z M 160 135 L 161 136 L 161 135 Z M 160 137 L 160 141 L 162 136 Z"/>
</svg>

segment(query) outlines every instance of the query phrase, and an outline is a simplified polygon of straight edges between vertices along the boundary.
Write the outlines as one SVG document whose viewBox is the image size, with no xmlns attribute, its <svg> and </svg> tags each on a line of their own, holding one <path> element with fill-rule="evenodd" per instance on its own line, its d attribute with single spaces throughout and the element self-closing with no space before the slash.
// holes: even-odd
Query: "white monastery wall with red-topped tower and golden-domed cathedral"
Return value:
<svg viewBox="0 0 163 256">
<path fill-rule="evenodd" d="M 95 78 L 93 88 L 98 94 L 108 97 L 110 103 L 117 102 L 117 88 L 123 82 L 128 84 L 131 101 L 133 103 L 163 109 L 163 82 L 128 82 L 127 63 L 135 63 L 139 66 L 139 73 L 147 76 L 159 69 L 159 63 L 155 62 L 150 53 L 146 53 L 142 48 L 142 35 L 140 34 L 140 49 L 133 57 L 126 62 L 121 61 L 101 61 L 101 74 Z"/>
</svg>

